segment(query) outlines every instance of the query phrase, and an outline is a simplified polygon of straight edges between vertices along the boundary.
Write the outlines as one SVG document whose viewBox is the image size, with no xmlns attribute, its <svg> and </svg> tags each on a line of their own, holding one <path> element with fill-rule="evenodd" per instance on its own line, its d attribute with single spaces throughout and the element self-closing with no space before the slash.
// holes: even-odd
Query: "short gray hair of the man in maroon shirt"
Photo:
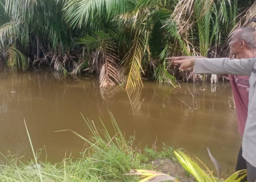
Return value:
<svg viewBox="0 0 256 182">
<path fill-rule="evenodd" d="M 243 40 L 248 47 L 255 49 L 255 29 L 251 27 L 240 27 L 239 29 L 242 30 L 239 39 Z"/>
</svg>

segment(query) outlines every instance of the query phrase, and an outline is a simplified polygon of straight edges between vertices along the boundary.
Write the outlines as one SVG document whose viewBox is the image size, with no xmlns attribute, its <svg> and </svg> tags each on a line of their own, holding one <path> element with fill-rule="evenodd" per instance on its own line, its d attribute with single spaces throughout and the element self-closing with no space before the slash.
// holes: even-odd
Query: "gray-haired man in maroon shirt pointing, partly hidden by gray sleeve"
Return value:
<svg viewBox="0 0 256 182">
<path fill-rule="evenodd" d="M 255 52 L 255 40 L 254 40 L 255 29 L 250 27 L 241 27 L 234 31 L 231 36 L 231 41 L 229 43 L 230 54 L 235 55 L 237 59 L 242 58 L 252 58 Z M 199 58 L 199 56 L 194 57 L 173 57 L 167 58 L 173 61 L 182 60 L 188 58 Z M 203 58 L 203 57 L 200 57 Z M 241 75 L 228 75 L 230 79 L 231 88 L 233 91 L 234 102 L 236 104 L 237 113 L 237 126 L 240 135 L 244 134 L 244 128 L 247 118 L 248 111 L 248 98 L 249 98 L 249 76 Z M 246 161 L 242 157 L 242 146 L 240 147 L 236 171 L 246 169 Z M 243 181 L 247 181 L 246 178 Z"/>
</svg>

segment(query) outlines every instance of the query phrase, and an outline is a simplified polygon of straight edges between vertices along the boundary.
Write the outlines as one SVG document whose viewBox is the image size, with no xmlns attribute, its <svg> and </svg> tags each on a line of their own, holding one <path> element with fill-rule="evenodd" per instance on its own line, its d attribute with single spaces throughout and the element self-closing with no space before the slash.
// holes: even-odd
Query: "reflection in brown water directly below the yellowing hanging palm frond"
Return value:
<svg viewBox="0 0 256 182">
<path fill-rule="evenodd" d="M 140 113 L 141 105 L 144 101 L 144 99 L 142 101 L 140 101 L 140 95 L 142 92 L 142 88 L 143 87 L 127 88 L 127 95 L 130 100 L 130 103 L 131 103 L 133 114 Z"/>
</svg>

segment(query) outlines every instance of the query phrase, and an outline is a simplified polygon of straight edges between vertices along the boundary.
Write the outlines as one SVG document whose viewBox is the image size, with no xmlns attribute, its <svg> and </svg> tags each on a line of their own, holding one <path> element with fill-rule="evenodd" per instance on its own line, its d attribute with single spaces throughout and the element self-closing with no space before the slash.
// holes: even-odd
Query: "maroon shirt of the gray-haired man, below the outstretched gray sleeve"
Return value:
<svg viewBox="0 0 256 182">
<path fill-rule="evenodd" d="M 250 76 L 229 75 L 237 112 L 238 132 L 243 135 L 248 112 Z"/>
</svg>

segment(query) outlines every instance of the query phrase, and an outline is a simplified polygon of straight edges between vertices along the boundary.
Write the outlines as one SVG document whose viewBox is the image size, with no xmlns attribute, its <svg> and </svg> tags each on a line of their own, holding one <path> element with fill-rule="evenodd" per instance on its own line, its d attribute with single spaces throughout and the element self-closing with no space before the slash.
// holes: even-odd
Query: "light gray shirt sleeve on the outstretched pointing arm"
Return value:
<svg viewBox="0 0 256 182">
<path fill-rule="evenodd" d="M 195 74 L 251 75 L 256 58 L 195 58 Z"/>
</svg>

